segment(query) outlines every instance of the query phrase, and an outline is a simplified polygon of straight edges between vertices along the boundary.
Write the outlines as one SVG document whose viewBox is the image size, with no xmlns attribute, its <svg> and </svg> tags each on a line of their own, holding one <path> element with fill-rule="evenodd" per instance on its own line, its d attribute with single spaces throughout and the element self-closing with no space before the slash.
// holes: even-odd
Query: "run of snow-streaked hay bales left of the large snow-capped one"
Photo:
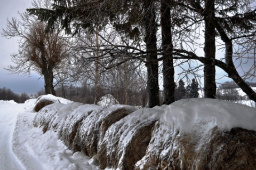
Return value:
<svg viewBox="0 0 256 170">
<path fill-rule="evenodd" d="M 95 157 L 100 168 L 133 169 L 146 152 L 163 109 L 53 103 L 35 116 L 34 126 L 58 132 L 69 149 Z"/>
</svg>

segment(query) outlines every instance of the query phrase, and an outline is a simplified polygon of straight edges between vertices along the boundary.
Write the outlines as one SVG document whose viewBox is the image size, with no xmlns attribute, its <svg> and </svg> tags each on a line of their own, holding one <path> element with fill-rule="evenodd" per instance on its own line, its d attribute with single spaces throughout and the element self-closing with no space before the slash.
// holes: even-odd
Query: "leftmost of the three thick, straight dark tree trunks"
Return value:
<svg viewBox="0 0 256 170">
<path fill-rule="evenodd" d="M 156 12 L 154 0 L 144 1 L 145 43 L 147 48 L 147 94 L 148 108 L 159 106 L 158 61 L 156 47 Z"/>
</svg>

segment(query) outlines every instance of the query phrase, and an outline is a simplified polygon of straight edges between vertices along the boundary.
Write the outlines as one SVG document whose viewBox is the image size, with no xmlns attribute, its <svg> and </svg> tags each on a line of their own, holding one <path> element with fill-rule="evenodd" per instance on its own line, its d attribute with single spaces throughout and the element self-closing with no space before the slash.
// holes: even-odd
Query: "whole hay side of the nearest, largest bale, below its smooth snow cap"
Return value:
<svg viewBox="0 0 256 170">
<path fill-rule="evenodd" d="M 256 167 L 255 131 L 233 128 L 223 132 L 215 126 L 199 139 L 195 134 L 179 136 L 171 131 L 163 132 L 159 122 L 157 124 L 145 157 L 135 164 L 134 169 L 235 170 Z"/>
</svg>

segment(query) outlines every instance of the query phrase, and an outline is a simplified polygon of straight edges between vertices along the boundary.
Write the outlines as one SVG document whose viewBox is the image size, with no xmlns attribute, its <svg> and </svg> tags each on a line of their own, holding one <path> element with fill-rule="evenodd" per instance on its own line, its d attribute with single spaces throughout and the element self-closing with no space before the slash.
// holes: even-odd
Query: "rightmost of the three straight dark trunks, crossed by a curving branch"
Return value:
<svg viewBox="0 0 256 170">
<path fill-rule="evenodd" d="M 215 0 L 205 0 L 205 10 L 207 10 L 212 17 L 214 17 Z M 205 58 L 215 59 L 215 27 L 211 21 L 205 19 L 205 43 L 204 55 Z M 216 98 L 216 83 L 215 83 L 215 66 L 212 63 L 204 65 L 204 97 Z"/>
</svg>

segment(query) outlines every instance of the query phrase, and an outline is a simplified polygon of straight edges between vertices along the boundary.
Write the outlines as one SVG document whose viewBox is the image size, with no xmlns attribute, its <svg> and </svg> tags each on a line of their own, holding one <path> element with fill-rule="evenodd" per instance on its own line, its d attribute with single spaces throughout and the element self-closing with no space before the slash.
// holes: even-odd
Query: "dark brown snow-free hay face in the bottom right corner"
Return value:
<svg viewBox="0 0 256 170">
<path fill-rule="evenodd" d="M 201 169 L 256 169 L 256 132 L 243 128 L 233 128 L 229 132 L 213 129 L 196 157 L 194 165 Z"/>
</svg>

